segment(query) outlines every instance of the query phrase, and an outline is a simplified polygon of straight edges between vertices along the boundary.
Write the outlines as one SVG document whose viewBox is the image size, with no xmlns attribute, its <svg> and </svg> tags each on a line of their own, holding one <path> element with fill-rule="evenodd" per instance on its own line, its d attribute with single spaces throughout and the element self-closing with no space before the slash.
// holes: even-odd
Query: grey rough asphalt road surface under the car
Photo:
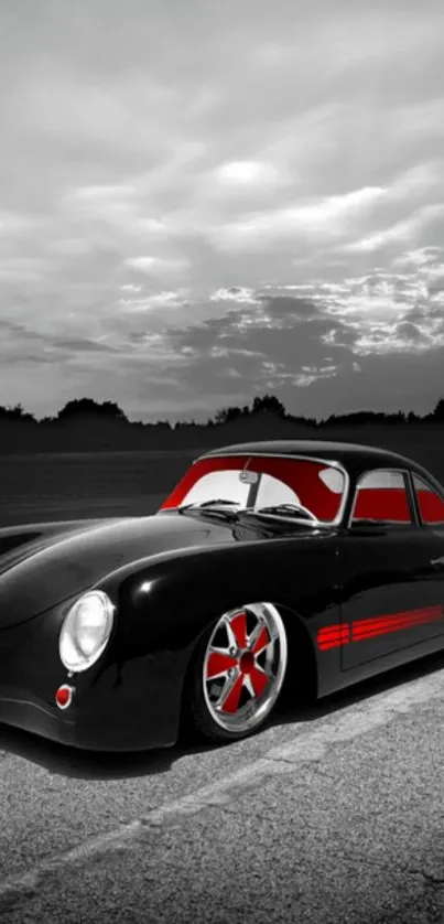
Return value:
<svg viewBox="0 0 444 924">
<path fill-rule="evenodd" d="M 444 654 L 236 745 L 0 727 L 0 921 L 444 921 Z"/>
</svg>

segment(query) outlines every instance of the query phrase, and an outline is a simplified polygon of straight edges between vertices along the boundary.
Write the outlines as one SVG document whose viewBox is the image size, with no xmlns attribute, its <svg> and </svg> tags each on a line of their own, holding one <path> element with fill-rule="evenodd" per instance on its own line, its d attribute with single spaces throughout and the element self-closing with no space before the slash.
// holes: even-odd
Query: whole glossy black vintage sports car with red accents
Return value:
<svg viewBox="0 0 444 924">
<path fill-rule="evenodd" d="M 258 442 L 153 516 L 0 529 L 0 720 L 100 750 L 258 730 L 444 647 L 444 490 L 402 455 Z"/>
</svg>

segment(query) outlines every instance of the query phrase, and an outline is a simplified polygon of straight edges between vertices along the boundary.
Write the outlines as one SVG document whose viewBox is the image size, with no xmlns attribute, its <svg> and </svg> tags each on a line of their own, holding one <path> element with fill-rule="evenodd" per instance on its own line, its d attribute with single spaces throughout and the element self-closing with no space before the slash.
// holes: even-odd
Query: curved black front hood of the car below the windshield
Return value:
<svg viewBox="0 0 444 924">
<path fill-rule="evenodd" d="M 0 628 L 72 599 L 139 559 L 273 535 L 282 537 L 282 529 L 270 530 L 258 522 L 246 526 L 177 513 L 0 529 Z M 299 528 L 297 535 L 310 539 L 313 529 Z"/>
</svg>

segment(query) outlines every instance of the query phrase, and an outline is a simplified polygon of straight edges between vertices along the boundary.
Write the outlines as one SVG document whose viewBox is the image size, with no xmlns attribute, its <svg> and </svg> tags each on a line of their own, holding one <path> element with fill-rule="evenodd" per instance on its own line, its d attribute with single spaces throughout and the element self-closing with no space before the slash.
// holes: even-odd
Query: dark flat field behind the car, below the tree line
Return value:
<svg viewBox="0 0 444 924">
<path fill-rule="evenodd" d="M 321 438 L 321 433 L 320 437 Z M 392 449 L 444 483 L 444 428 L 322 431 Z M 205 447 L 181 451 L 35 453 L 0 456 L 0 526 L 154 513 Z"/>
</svg>

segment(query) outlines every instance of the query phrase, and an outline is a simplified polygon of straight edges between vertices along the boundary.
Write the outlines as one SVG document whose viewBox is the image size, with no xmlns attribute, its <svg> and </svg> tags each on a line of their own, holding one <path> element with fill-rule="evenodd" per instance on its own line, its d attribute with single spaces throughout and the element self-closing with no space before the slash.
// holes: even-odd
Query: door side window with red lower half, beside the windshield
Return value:
<svg viewBox="0 0 444 924">
<path fill-rule="evenodd" d="M 378 470 L 362 475 L 357 485 L 351 523 L 412 523 L 404 476 Z"/>
</svg>

